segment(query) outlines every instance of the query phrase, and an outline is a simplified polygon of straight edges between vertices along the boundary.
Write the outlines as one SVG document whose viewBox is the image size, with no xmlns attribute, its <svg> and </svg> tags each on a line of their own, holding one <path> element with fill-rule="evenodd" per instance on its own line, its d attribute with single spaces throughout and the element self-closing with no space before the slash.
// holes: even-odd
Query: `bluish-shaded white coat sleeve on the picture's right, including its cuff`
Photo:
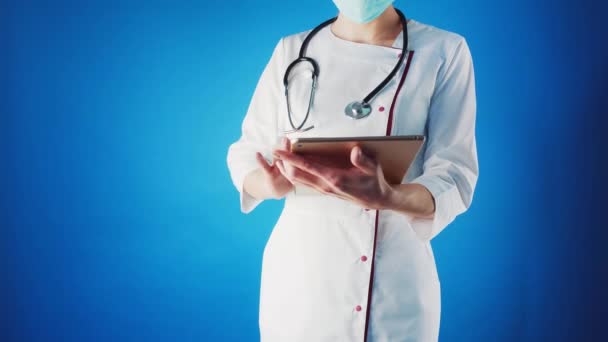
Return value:
<svg viewBox="0 0 608 342">
<path fill-rule="evenodd" d="M 432 219 L 412 218 L 422 240 L 431 240 L 471 205 L 479 167 L 475 143 L 475 77 L 466 40 L 459 36 L 437 74 L 429 106 L 423 172 L 411 183 L 433 195 Z"/>
</svg>

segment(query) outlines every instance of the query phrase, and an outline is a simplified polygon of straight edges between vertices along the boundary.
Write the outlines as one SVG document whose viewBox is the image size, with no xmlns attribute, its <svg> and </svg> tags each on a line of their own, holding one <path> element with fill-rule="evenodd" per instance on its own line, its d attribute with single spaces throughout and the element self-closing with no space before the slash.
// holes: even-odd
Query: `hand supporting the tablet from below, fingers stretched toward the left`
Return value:
<svg viewBox="0 0 608 342">
<path fill-rule="evenodd" d="M 279 170 L 292 183 L 301 183 L 317 191 L 350 200 L 369 209 L 382 209 L 390 200 L 392 188 L 382 167 L 366 156 L 359 146 L 350 153 L 348 167 L 328 166 L 313 156 L 275 150 Z"/>
</svg>

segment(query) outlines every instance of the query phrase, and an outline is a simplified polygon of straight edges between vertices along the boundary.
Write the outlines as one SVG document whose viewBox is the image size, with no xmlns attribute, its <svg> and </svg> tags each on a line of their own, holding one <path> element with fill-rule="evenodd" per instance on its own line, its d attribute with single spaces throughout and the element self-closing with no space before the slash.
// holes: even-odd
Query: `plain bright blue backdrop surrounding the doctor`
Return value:
<svg viewBox="0 0 608 342">
<path fill-rule="evenodd" d="M 442 341 L 608 338 L 593 2 L 396 2 L 464 35 L 476 72 L 477 192 L 433 241 Z M 335 14 L 329 0 L 1 2 L 0 340 L 257 340 L 282 202 L 240 214 L 226 152 L 277 40 Z"/>
</svg>

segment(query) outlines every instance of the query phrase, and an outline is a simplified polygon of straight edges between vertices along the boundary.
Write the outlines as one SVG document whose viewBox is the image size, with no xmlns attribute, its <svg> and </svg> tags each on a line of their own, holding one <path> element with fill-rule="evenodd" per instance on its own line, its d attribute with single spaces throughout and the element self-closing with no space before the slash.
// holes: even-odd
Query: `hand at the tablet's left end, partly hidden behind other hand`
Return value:
<svg viewBox="0 0 608 342">
<path fill-rule="evenodd" d="M 283 138 L 281 144 L 276 147 L 277 149 L 287 150 L 290 149 L 289 139 Z M 264 184 L 264 192 L 266 198 L 274 198 L 281 199 L 287 195 L 293 189 L 293 184 L 283 176 L 279 168 L 277 167 L 276 159 L 272 161 L 271 164 L 268 164 L 264 156 L 260 152 L 256 152 L 256 159 L 260 168 L 259 172 L 259 180 Z"/>
</svg>

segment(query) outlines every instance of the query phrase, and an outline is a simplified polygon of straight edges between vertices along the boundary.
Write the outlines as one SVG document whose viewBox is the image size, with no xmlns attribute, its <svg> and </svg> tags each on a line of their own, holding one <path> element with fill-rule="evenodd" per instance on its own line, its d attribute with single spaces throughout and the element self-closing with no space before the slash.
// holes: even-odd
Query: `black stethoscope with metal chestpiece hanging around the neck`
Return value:
<svg viewBox="0 0 608 342">
<path fill-rule="evenodd" d="M 401 19 L 401 26 L 403 27 L 403 47 L 401 48 L 401 56 L 399 56 L 399 61 L 397 62 L 397 65 L 395 65 L 395 67 L 393 68 L 393 70 L 388 74 L 388 76 L 386 76 L 386 78 L 380 82 L 380 84 L 378 84 L 378 86 L 376 86 L 376 88 L 374 88 L 374 90 L 372 90 L 364 99 L 363 101 L 353 101 L 351 103 L 349 103 L 348 105 L 346 105 L 346 108 L 344 108 L 344 114 L 346 114 L 346 116 L 352 118 L 352 119 L 363 119 L 365 117 L 367 117 L 368 115 L 371 114 L 372 112 L 372 107 L 370 106 L 370 101 L 376 96 L 378 95 L 378 93 L 388 84 L 388 82 L 395 76 L 395 74 L 397 73 L 397 70 L 399 70 L 399 67 L 401 66 L 401 64 L 403 63 L 403 59 L 405 58 L 405 51 L 407 50 L 407 20 L 405 19 L 405 16 L 403 15 L 403 13 L 401 13 L 401 11 L 399 11 L 398 9 L 395 8 L 395 11 L 397 12 L 397 14 L 399 15 L 399 18 Z M 304 39 L 304 42 L 302 43 L 302 46 L 300 47 L 300 54 L 298 56 L 298 58 L 296 60 L 294 60 L 293 62 L 291 62 L 291 64 L 289 64 L 289 66 L 287 67 L 287 70 L 285 70 L 285 75 L 283 76 L 283 85 L 285 86 L 285 98 L 287 100 L 287 115 L 289 117 L 289 123 L 291 124 L 291 127 L 293 128 L 292 130 L 288 130 L 285 133 L 289 134 L 289 133 L 294 133 L 294 132 L 306 132 L 308 130 L 311 130 L 312 128 L 314 128 L 314 125 L 311 125 L 309 127 L 306 128 L 302 128 L 304 127 L 304 124 L 306 123 L 306 120 L 308 120 L 308 115 L 310 114 L 310 107 L 312 106 L 312 102 L 313 102 L 313 98 L 315 95 L 315 88 L 317 87 L 317 79 L 319 77 L 319 66 L 317 64 L 317 62 L 310 58 L 310 57 L 306 57 L 306 48 L 308 48 L 308 43 L 310 42 L 310 40 L 312 39 L 312 37 L 317 34 L 317 32 L 319 32 L 322 28 L 324 28 L 325 26 L 333 23 L 334 21 L 336 21 L 336 19 L 338 19 L 338 17 L 334 17 L 331 18 L 327 21 L 322 22 L 319 26 L 315 27 Z M 296 66 L 298 63 L 301 62 L 308 62 L 312 65 L 312 86 L 310 88 L 310 98 L 308 100 L 308 109 L 306 110 L 306 116 L 304 116 L 304 120 L 302 121 L 302 123 L 299 126 L 295 126 L 293 123 L 293 119 L 292 119 L 292 114 L 291 114 L 291 105 L 289 103 L 289 85 L 288 85 L 288 78 L 289 78 L 289 73 L 291 72 L 291 69 L 293 69 L 294 66 Z"/>
</svg>

